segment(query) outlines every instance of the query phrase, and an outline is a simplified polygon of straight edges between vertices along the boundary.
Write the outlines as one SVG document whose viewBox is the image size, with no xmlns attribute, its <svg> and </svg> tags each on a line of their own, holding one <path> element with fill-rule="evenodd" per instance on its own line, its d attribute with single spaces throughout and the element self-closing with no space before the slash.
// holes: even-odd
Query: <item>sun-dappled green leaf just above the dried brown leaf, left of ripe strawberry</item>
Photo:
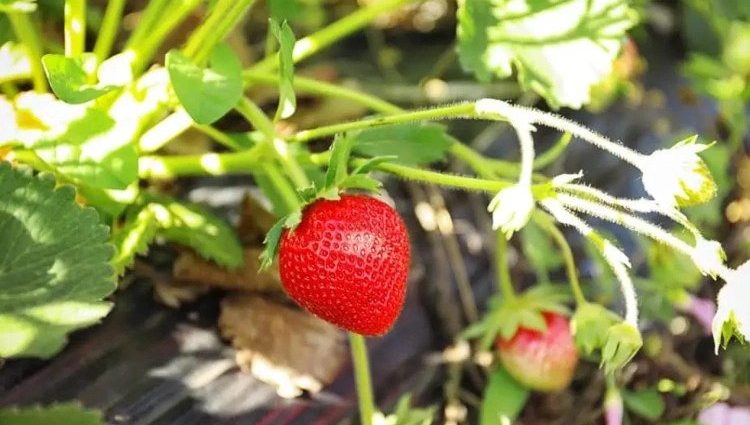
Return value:
<svg viewBox="0 0 750 425">
<path fill-rule="evenodd" d="M 159 222 L 158 234 L 193 248 L 220 266 L 237 268 L 244 262 L 235 231 L 222 219 L 197 205 L 152 197 L 151 208 Z"/>
</svg>

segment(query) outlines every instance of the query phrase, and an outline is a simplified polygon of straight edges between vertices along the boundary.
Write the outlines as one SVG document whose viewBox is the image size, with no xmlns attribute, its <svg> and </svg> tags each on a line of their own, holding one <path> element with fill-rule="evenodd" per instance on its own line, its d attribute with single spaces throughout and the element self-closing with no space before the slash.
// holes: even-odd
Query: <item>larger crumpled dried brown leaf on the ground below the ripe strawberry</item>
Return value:
<svg viewBox="0 0 750 425">
<path fill-rule="evenodd" d="M 330 384 L 346 357 L 344 333 L 303 311 L 257 295 L 232 294 L 221 303 L 221 334 L 245 371 L 292 398 Z"/>
</svg>

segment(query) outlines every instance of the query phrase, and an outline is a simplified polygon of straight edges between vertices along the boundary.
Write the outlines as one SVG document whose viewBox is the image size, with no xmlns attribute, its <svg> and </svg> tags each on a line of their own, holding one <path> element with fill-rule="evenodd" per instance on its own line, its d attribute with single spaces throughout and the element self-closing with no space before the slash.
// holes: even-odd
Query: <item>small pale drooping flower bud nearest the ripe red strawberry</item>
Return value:
<svg viewBox="0 0 750 425">
<path fill-rule="evenodd" d="M 500 229 L 510 239 L 513 232 L 521 230 L 534 211 L 534 195 L 531 186 L 515 184 L 495 195 L 487 207 L 492 213 L 492 228 Z"/>
</svg>

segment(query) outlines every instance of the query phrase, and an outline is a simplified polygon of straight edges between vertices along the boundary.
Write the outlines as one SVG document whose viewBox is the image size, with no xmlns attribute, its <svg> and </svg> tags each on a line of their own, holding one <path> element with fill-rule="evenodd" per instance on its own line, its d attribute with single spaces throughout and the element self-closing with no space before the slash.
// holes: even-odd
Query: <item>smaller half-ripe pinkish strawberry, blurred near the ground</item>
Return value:
<svg viewBox="0 0 750 425">
<path fill-rule="evenodd" d="M 573 379 L 578 351 L 570 322 L 558 313 L 543 312 L 547 330 L 519 327 L 510 339 L 498 338 L 500 361 L 523 385 L 537 391 L 558 391 Z"/>
</svg>

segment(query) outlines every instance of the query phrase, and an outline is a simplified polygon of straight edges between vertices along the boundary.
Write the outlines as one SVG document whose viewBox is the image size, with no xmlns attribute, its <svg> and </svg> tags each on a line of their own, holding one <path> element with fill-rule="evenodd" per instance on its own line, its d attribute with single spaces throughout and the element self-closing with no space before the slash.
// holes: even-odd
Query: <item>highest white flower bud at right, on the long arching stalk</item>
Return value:
<svg viewBox="0 0 750 425">
<path fill-rule="evenodd" d="M 711 145 L 695 143 L 697 136 L 642 157 L 643 186 L 668 208 L 702 204 L 716 195 L 716 183 L 698 154 Z"/>
</svg>

